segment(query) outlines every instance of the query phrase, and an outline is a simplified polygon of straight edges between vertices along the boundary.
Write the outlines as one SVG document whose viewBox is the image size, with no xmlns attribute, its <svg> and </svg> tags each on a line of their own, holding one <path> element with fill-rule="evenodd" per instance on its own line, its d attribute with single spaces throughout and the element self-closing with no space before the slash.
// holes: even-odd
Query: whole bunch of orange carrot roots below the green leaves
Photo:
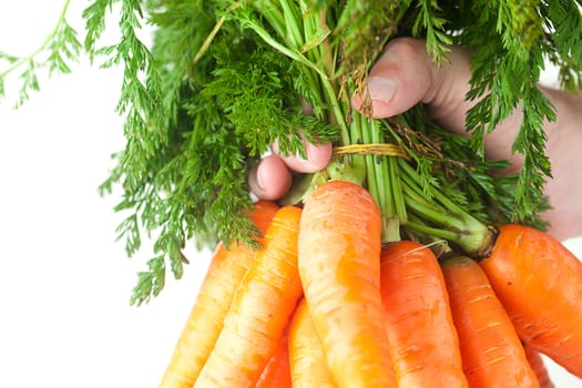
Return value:
<svg viewBox="0 0 582 388">
<path fill-rule="evenodd" d="M 582 262 L 518 224 L 487 255 L 382 244 L 361 185 L 258 201 L 261 248 L 219 244 L 160 387 L 552 387 L 582 378 Z"/>
</svg>

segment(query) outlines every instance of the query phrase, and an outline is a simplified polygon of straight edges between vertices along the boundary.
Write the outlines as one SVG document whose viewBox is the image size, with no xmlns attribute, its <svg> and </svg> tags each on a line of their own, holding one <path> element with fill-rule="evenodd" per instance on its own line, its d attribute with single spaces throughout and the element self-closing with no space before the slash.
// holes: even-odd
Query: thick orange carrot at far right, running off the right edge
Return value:
<svg viewBox="0 0 582 388">
<path fill-rule="evenodd" d="M 547 233 L 504 225 L 480 265 L 521 340 L 582 377 L 582 262 Z"/>
</svg>

